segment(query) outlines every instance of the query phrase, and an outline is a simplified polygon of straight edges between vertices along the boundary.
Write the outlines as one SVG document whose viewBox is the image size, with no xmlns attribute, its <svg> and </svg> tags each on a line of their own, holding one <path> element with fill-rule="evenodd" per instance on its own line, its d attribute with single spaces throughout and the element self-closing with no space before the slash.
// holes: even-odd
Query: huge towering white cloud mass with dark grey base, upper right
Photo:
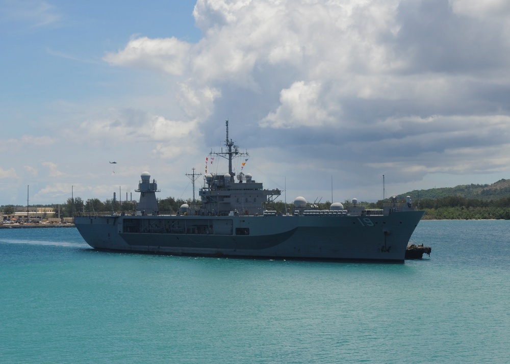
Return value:
<svg viewBox="0 0 510 364">
<path fill-rule="evenodd" d="M 254 145 L 353 185 L 385 170 L 403 182 L 507 170 L 506 1 L 198 0 L 193 16 L 196 43 L 134 37 L 105 57 L 174 77 L 189 120 L 130 112 L 82 128 L 163 142 L 220 135 L 212 121 L 234 114 Z"/>
</svg>

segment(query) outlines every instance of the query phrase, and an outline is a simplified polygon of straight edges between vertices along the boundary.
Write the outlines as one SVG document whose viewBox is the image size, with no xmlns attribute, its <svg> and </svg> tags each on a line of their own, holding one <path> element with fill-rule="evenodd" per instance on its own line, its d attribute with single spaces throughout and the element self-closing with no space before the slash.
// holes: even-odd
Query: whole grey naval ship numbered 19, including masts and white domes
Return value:
<svg viewBox="0 0 510 364">
<path fill-rule="evenodd" d="M 318 210 L 297 197 L 290 213 L 271 205 L 281 191 L 265 190 L 250 174 L 233 172 L 242 153 L 228 138 L 226 150 L 211 152 L 228 160 L 228 173 L 206 174 L 201 204 L 183 204 L 176 214 L 158 210 L 156 180 L 141 174 L 136 213 L 80 213 L 74 224 L 93 248 L 171 255 L 271 259 L 403 262 L 407 243 L 423 216 L 411 203 L 395 198 L 383 209 L 365 209 L 352 200 Z M 237 179 L 237 180 L 236 180 Z"/>
</svg>

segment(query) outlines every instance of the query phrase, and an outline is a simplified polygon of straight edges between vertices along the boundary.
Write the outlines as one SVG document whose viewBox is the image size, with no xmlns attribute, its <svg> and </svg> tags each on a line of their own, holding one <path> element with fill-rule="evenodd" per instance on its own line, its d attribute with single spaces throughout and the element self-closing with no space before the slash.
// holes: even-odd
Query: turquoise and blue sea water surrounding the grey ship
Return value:
<svg viewBox="0 0 510 364">
<path fill-rule="evenodd" d="M 422 221 L 404 264 L 95 251 L 0 229 L 3 363 L 507 363 L 510 221 Z"/>
</svg>

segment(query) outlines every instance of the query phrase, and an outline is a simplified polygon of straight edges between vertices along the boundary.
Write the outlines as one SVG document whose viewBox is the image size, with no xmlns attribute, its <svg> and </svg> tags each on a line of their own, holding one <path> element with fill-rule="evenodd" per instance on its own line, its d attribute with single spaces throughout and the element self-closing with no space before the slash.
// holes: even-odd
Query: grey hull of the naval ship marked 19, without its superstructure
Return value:
<svg viewBox="0 0 510 364">
<path fill-rule="evenodd" d="M 93 248 L 224 257 L 403 262 L 422 211 L 386 216 L 81 216 Z"/>
</svg>

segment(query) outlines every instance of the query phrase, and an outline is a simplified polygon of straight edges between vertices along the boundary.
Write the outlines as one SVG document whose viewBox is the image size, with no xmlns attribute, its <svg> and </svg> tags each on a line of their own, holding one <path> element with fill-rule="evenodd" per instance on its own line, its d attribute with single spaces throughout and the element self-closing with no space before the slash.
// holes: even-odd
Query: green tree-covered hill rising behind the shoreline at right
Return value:
<svg viewBox="0 0 510 364">
<path fill-rule="evenodd" d="M 431 188 L 415 190 L 398 195 L 398 199 L 411 196 L 416 201 L 422 199 L 438 199 L 449 196 L 464 197 L 466 199 L 497 200 L 510 196 L 510 179 L 500 179 L 492 185 L 458 185 L 455 187 Z"/>
</svg>

